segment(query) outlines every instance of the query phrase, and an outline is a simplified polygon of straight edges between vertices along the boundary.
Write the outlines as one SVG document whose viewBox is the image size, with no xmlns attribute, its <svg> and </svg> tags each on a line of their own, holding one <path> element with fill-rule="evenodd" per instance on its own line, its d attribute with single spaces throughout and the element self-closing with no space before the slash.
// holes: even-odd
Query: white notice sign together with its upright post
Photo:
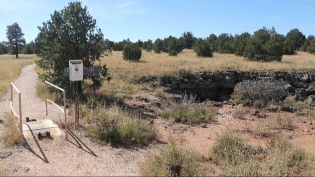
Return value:
<svg viewBox="0 0 315 177">
<path fill-rule="evenodd" d="M 79 81 L 83 80 L 83 61 L 69 60 L 69 79 L 74 81 L 76 96 L 79 95 Z M 79 127 L 79 100 L 75 100 L 75 127 Z"/>
</svg>

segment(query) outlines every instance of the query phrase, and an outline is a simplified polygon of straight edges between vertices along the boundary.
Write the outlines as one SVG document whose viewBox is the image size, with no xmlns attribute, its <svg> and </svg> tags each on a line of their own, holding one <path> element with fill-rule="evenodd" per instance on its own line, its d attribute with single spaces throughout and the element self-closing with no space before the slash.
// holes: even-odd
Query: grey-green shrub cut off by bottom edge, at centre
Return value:
<svg viewBox="0 0 315 177">
<path fill-rule="evenodd" d="M 200 155 L 170 138 L 169 144 L 160 151 L 148 154 L 140 163 L 143 176 L 200 176 Z"/>
</svg>

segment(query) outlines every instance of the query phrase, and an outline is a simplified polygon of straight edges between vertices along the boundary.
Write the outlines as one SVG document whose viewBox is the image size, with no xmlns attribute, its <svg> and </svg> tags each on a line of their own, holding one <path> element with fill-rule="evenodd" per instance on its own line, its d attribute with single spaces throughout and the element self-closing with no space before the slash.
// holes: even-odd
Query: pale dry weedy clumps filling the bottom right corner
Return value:
<svg viewBox="0 0 315 177">
<path fill-rule="evenodd" d="M 266 156 L 265 164 L 261 155 Z M 252 146 L 245 139 L 225 132 L 211 152 L 213 162 L 227 176 L 314 175 L 314 156 L 293 145 L 280 135 L 273 136 L 268 148 Z"/>
</svg>

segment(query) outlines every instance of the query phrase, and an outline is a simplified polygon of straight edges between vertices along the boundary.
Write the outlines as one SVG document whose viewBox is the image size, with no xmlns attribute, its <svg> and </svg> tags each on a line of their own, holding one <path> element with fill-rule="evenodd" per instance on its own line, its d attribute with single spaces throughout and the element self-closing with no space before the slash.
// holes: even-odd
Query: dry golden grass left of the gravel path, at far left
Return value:
<svg viewBox="0 0 315 177">
<path fill-rule="evenodd" d="M 0 55 L 0 98 L 8 90 L 10 82 L 15 80 L 21 73 L 21 69 L 31 63 L 34 63 L 37 56 L 35 54 Z"/>
</svg>

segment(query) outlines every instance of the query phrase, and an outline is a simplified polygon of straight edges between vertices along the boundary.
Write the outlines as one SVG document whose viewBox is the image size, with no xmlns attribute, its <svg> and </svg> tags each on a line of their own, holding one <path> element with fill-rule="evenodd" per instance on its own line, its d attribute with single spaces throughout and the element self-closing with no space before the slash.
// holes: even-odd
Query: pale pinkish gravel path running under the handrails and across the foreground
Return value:
<svg viewBox="0 0 315 177">
<path fill-rule="evenodd" d="M 35 64 L 24 67 L 19 78 L 14 81 L 22 93 L 24 119 L 26 116 L 36 119 L 45 117 L 45 102 L 37 97 L 35 91 L 38 76 L 34 67 Z M 1 114 L 10 111 L 9 98 L 10 91 L 0 101 Z M 14 97 L 14 107 L 19 110 L 16 100 L 17 96 Z M 49 115 L 58 117 L 61 113 L 56 107 L 49 105 Z M 64 130 L 62 131 L 64 134 Z M 23 151 L 19 152 L 18 149 Z M 68 141 L 63 136 L 43 140 L 31 138 L 26 139 L 25 146 L 2 150 L 13 151 L 9 157 L 0 159 L 0 167 L 5 170 L 5 175 L 12 176 L 138 175 L 137 163 L 145 151 L 98 145 L 81 131 L 69 133 Z"/>
</svg>

